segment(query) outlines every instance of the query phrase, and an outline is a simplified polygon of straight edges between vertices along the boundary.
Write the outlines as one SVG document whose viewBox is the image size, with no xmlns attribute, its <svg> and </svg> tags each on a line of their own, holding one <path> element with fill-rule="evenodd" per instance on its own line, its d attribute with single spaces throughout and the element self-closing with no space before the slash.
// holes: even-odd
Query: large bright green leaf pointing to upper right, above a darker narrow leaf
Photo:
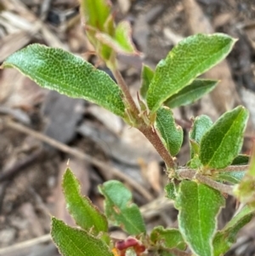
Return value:
<svg viewBox="0 0 255 256">
<path fill-rule="evenodd" d="M 150 111 L 189 85 L 195 77 L 218 64 L 229 54 L 235 39 L 220 33 L 197 34 L 176 45 L 156 66 L 147 94 Z"/>
</svg>

